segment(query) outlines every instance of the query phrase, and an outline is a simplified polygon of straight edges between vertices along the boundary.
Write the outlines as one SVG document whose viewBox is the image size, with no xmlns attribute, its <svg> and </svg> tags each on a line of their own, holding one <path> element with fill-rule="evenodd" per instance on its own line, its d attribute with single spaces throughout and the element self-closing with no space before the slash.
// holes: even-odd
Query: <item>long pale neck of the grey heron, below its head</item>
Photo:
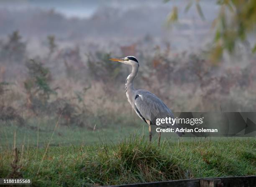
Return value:
<svg viewBox="0 0 256 187">
<path fill-rule="evenodd" d="M 130 75 L 128 75 L 126 81 L 125 81 L 125 93 L 126 96 L 128 98 L 128 101 L 131 103 L 132 97 L 133 97 L 133 93 L 135 91 L 134 87 L 133 87 L 133 80 L 135 79 L 137 72 L 138 72 L 138 67 L 139 65 L 132 65 L 133 70 L 131 72 Z"/>
</svg>

